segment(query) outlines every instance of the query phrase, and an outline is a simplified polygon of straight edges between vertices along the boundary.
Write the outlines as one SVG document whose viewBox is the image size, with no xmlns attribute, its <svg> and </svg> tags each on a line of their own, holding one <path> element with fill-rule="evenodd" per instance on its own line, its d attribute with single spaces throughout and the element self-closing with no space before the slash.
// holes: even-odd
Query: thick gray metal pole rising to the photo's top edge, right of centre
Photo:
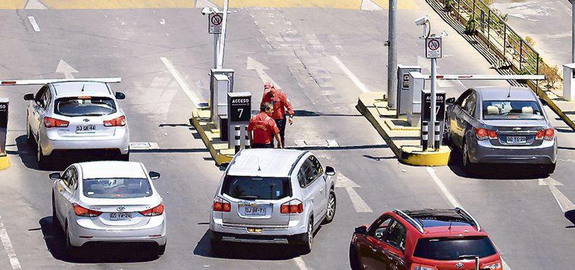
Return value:
<svg viewBox="0 0 575 270">
<path fill-rule="evenodd" d="M 388 40 L 389 50 L 387 55 L 387 107 L 397 108 L 398 89 L 398 35 L 397 35 L 397 9 L 398 0 L 389 1 Z"/>
</svg>

